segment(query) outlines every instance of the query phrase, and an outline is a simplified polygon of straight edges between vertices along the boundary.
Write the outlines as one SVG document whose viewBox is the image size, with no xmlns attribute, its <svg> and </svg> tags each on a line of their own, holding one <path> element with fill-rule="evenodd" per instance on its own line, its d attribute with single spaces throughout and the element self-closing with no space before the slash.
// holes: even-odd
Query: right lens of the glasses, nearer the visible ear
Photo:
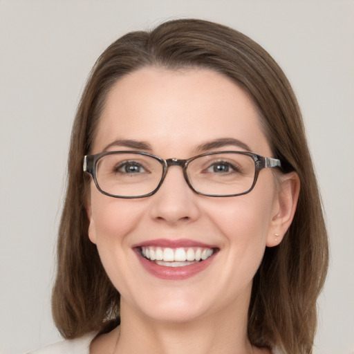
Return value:
<svg viewBox="0 0 354 354">
<path fill-rule="evenodd" d="M 215 196 L 247 192 L 252 187 L 255 164 L 242 153 L 216 153 L 189 162 L 189 182 L 196 191 Z"/>
</svg>

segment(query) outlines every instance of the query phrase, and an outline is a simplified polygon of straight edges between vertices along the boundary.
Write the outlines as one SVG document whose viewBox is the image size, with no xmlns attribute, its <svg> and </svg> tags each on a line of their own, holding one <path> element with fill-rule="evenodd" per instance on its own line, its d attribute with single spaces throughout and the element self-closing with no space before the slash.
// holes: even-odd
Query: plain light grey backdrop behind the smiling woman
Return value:
<svg viewBox="0 0 354 354">
<path fill-rule="evenodd" d="M 50 318 L 55 238 L 88 71 L 120 35 L 171 17 L 245 32 L 292 82 L 330 234 L 315 353 L 354 353 L 353 15 L 352 0 L 0 0 L 0 353 L 59 339 Z"/>
</svg>

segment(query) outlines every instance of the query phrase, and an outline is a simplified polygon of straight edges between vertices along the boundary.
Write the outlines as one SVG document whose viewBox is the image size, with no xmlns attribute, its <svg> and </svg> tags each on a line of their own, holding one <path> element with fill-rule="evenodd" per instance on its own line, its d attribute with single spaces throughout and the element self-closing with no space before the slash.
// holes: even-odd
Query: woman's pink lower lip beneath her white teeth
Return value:
<svg viewBox="0 0 354 354">
<path fill-rule="evenodd" d="M 136 253 L 138 254 L 140 263 L 147 272 L 153 275 L 153 277 L 166 280 L 183 280 L 194 277 L 194 275 L 202 272 L 210 265 L 210 263 L 212 263 L 216 254 L 216 252 L 214 252 L 208 259 L 198 263 L 184 265 L 182 267 L 166 267 L 165 265 L 158 265 L 154 262 L 148 261 L 141 256 L 140 252 Z"/>
</svg>

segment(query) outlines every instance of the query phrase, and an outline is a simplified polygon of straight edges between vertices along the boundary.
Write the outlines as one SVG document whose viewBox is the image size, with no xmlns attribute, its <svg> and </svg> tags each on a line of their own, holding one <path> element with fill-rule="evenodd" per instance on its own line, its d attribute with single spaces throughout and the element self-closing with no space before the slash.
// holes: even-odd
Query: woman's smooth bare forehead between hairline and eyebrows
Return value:
<svg viewBox="0 0 354 354">
<path fill-rule="evenodd" d="M 208 140 L 235 138 L 246 140 L 254 152 L 268 153 L 259 120 L 250 97 L 221 73 L 142 68 L 111 88 L 93 150 L 131 139 L 149 142 L 156 153 L 172 150 L 181 157 Z"/>
</svg>

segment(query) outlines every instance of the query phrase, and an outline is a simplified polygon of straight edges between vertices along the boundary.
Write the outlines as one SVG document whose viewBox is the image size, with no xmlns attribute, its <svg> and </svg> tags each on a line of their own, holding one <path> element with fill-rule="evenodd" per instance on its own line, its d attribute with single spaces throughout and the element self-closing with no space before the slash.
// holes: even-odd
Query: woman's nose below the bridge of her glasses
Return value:
<svg viewBox="0 0 354 354">
<path fill-rule="evenodd" d="M 152 218 L 169 224 L 186 223 L 196 220 L 200 215 L 198 194 L 190 189 L 183 176 L 183 169 L 171 165 L 160 189 L 149 197 Z"/>
</svg>

